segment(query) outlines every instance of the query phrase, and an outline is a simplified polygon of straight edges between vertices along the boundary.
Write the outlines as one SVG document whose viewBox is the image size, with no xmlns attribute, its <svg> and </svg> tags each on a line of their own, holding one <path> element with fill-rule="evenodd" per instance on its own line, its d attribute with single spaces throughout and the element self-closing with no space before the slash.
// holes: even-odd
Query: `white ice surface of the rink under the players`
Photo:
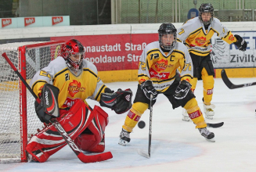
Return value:
<svg viewBox="0 0 256 172">
<path fill-rule="evenodd" d="M 234 84 L 255 82 L 256 78 L 231 78 Z M 115 82 L 106 85 L 131 88 L 133 99 L 137 82 Z M 149 134 L 149 110 L 141 120 L 146 127 L 135 127 L 131 142 L 127 146 L 118 145 L 121 126 L 126 113 L 117 115 L 106 109 L 110 123 L 106 127 L 106 151 L 114 158 L 99 163 L 81 163 L 69 146 L 51 156 L 45 163 L 0 164 L 1 171 L 256 171 L 256 86 L 230 90 L 222 79 L 215 79 L 212 103 L 215 104 L 214 120 L 209 123 L 224 122 L 220 128 L 208 128 L 215 133 L 216 142 L 207 142 L 192 121 L 182 121 L 182 108 L 172 109 L 164 95 L 158 95 L 153 106 L 152 152 L 146 159 L 136 152 L 146 151 Z M 203 110 L 203 86 L 198 81 L 195 91 L 197 101 Z M 98 102 L 88 101 L 91 106 Z"/>
</svg>

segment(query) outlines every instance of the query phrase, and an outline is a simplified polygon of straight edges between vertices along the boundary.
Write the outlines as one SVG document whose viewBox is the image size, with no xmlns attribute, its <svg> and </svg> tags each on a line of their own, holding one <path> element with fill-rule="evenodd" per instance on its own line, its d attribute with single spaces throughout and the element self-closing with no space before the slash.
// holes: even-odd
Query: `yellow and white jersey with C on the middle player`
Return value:
<svg viewBox="0 0 256 172">
<path fill-rule="evenodd" d="M 185 45 L 176 41 L 174 48 L 164 53 L 159 41 L 146 45 L 139 59 L 139 84 L 151 80 L 153 87 L 164 92 L 175 81 L 177 69 L 182 69 L 181 80 L 191 81 L 193 78 L 193 64 Z"/>
</svg>

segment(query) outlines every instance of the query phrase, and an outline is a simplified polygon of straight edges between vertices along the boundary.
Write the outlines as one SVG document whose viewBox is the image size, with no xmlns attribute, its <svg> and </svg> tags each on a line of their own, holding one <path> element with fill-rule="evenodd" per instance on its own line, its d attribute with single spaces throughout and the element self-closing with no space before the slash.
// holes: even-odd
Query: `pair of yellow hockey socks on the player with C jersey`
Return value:
<svg viewBox="0 0 256 172">
<path fill-rule="evenodd" d="M 132 105 L 132 109 L 128 111 L 123 128 L 128 132 L 132 132 L 132 129 L 136 126 L 140 117 L 148 108 L 149 105 L 147 103 L 135 102 Z M 187 110 L 190 119 L 193 120 L 194 124 L 196 124 L 196 128 L 207 127 L 207 124 L 204 121 L 204 116 L 201 113 L 195 98 L 190 99 L 184 108 Z"/>
</svg>

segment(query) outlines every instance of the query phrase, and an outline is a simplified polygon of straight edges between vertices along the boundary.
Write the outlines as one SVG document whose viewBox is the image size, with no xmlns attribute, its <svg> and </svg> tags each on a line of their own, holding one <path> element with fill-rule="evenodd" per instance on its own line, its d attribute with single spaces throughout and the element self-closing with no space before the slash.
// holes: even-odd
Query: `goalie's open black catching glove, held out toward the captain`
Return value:
<svg viewBox="0 0 256 172">
<path fill-rule="evenodd" d="M 114 93 L 102 93 L 99 103 L 100 106 L 113 109 L 117 114 L 125 113 L 132 107 L 132 90 L 128 88 L 124 91 L 118 89 Z"/>
</svg>

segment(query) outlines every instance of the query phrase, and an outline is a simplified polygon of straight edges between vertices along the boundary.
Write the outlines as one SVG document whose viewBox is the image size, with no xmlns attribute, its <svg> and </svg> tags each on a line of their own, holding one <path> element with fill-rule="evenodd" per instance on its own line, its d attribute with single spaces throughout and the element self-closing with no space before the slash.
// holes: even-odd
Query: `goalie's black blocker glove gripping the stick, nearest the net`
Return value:
<svg viewBox="0 0 256 172">
<path fill-rule="evenodd" d="M 34 102 L 35 112 L 42 123 L 49 124 L 52 117 L 59 117 L 59 88 L 45 84 L 41 91 L 41 102 Z"/>
</svg>

